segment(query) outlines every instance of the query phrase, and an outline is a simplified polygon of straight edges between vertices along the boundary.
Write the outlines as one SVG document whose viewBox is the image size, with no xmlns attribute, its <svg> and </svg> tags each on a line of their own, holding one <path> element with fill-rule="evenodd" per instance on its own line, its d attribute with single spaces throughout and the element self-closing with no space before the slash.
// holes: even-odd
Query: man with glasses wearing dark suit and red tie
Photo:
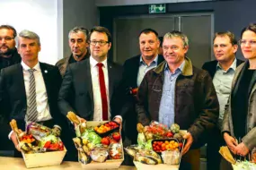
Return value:
<svg viewBox="0 0 256 170">
<path fill-rule="evenodd" d="M 122 67 L 107 58 L 111 35 L 104 27 L 94 27 L 89 35 L 91 56 L 70 64 L 59 91 L 58 106 L 62 114 L 73 111 L 82 120 L 122 122 L 120 112 L 125 90 Z"/>
</svg>

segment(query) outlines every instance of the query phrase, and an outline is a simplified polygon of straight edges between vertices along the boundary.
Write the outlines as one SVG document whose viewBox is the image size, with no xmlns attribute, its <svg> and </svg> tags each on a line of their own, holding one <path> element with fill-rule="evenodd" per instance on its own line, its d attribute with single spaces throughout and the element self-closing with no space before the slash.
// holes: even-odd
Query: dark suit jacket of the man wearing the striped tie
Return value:
<svg viewBox="0 0 256 170">
<path fill-rule="evenodd" d="M 40 69 L 44 79 L 49 112 L 54 123 L 62 125 L 58 115 L 57 95 L 61 84 L 61 76 L 56 66 L 40 63 Z M 11 132 L 9 122 L 15 119 L 18 127 L 24 130 L 25 115 L 27 111 L 27 98 L 23 79 L 22 64 L 14 64 L 4 68 L 0 75 L 0 113 L 4 115 L 5 138 Z"/>
</svg>

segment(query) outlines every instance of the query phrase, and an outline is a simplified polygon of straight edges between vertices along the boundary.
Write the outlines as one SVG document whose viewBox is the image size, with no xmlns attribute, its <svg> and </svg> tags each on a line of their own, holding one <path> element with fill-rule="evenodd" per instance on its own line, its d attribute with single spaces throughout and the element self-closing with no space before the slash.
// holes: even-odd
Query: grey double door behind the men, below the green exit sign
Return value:
<svg viewBox="0 0 256 170">
<path fill-rule="evenodd" d="M 113 61 L 116 63 L 123 64 L 140 54 L 138 34 L 146 28 L 156 30 L 159 36 L 172 30 L 184 32 L 190 40 L 188 57 L 199 68 L 213 58 L 213 13 L 118 17 L 113 24 Z"/>
</svg>

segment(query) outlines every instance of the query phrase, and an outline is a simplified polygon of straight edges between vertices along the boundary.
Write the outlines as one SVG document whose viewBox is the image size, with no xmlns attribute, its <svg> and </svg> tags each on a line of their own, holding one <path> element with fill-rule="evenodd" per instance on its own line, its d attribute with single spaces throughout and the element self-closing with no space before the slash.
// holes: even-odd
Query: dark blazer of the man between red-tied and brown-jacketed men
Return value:
<svg viewBox="0 0 256 170">
<path fill-rule="evenodd" d="M 136 99 L 129 94 L 130 88 L 137 88 L 137 72 L 140 64 L 140 56 L 136 55 L 129 58 L 123 65 L 125 86 L 127 89 L 127 117 L 125 120 L 125 135 L 132 141 L 132 143 L 137 143 L 137 115 L 135 111 Z M 158 55 L 157 65 L 164 61 L 163 55 Z"/>
</svg>

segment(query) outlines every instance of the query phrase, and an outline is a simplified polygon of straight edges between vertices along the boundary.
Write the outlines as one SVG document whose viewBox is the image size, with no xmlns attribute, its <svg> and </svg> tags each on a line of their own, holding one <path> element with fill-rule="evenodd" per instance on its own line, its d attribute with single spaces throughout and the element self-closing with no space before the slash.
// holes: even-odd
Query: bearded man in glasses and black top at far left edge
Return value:
<svg viewBox="0 0 256 170">
<path fill-rule="evenodd" d="M 16 35 L 17 32 L 12 26 L 0 26 L 0 70 L 22 61 L 15 47 Z"/>
</svg>

